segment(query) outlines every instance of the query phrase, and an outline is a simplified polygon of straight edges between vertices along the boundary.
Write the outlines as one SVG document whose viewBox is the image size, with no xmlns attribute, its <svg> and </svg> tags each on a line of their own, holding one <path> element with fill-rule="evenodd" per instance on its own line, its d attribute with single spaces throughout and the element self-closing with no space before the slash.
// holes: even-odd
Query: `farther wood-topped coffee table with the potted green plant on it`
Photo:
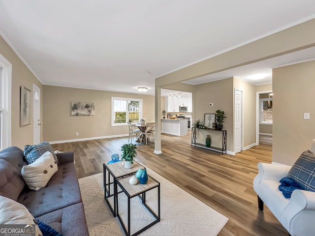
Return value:
<svg viewBox="0 0 315 236">
<path fill-rule="evenodd" d="M 104 198 L 105 201 L 110 208 L 111 212 L 113 213 L 113 216 L 116 217 L 116 204 L 117 204 L 117 183 L 116 179 L 129 176 L 131 174 L 136 173 L 141 166 L 139 163 L 133 161 L 133 168 L 126 169 L 124 165 L 122 165 L 122 162 L 116 162 L 111 164 L 103 164 L 103 171 L 104 171 Z M 110 176 L 113 178 L 113 181 L 111 182 Z M 113 185 L 112 193 L 111 193 L 111 185 Z M 113 205 L 110 204 L 108 201 L 108 198 L 113 197 Z"/>
</svg>

